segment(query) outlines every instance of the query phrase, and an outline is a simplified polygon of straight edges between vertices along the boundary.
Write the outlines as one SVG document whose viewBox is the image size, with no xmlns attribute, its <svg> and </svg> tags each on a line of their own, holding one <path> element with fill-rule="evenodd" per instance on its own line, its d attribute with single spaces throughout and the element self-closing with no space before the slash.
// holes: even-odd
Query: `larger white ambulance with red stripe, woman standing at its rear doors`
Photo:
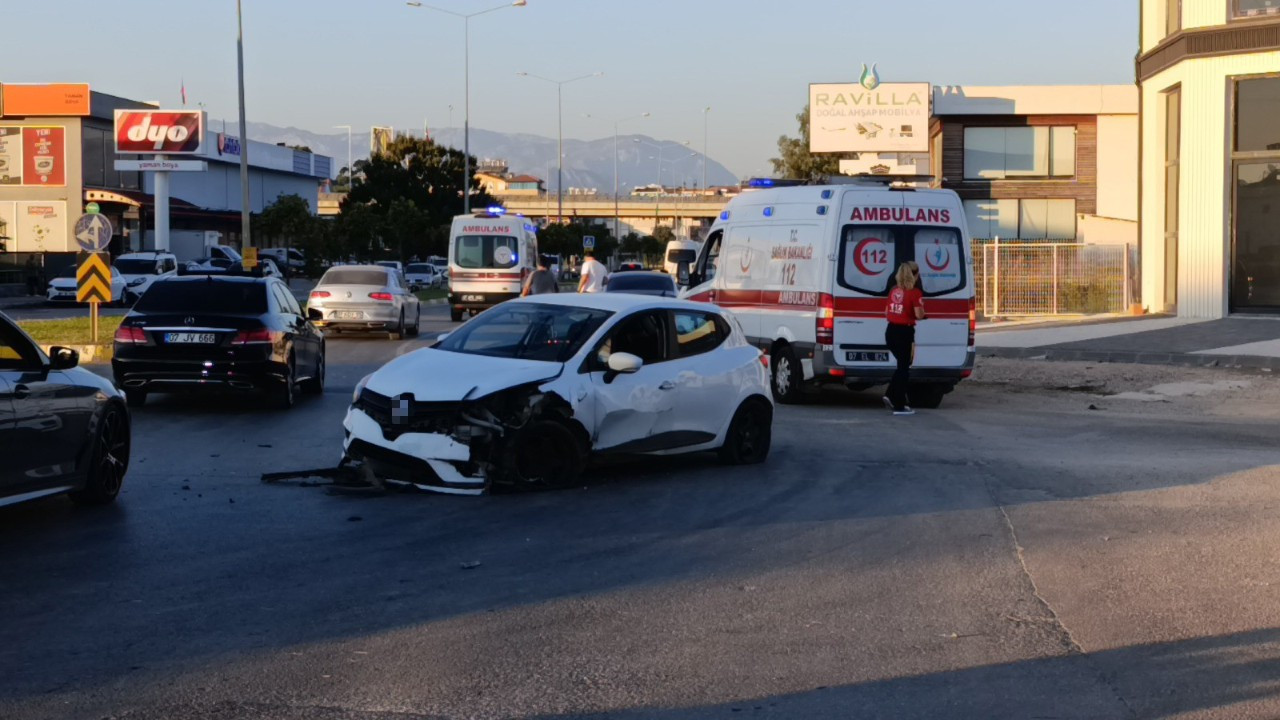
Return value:
<svg viewBox="0 0 1280 720">
<path fill-rule="evenodd" d="M 927 318 L 908 396 L 911 406 L 937 407 L 974 364 L 964 208 L 950 190 L 850 181 L 730 200 L 682 296 L 731 309 L 769 359 L 773 397 L 796 402 L 809 383 L 888 383 L 886 296 L 897 266 L 915 260 Z"/>
</svg>

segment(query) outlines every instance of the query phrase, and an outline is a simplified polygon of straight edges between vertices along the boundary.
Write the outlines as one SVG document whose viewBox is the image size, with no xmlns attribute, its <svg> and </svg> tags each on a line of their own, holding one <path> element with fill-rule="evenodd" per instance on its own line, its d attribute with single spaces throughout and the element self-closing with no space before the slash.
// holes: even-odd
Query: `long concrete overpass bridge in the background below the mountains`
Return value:
<svg viewBox="0 0 1280 720">
<path fill-rule="evenodd" d="M 557 206 L 554 193 L 538 196 L 499 196 L 508 213 L 518 213 L 535 220 L 556 222 Z M 653 234 L 658 225 L 668 225 L 676 237 L 698 237 L 703 228 L 710 227 L 728 204 L 724 196 L 635 196 L 618 200 L 617 218 L 620 234 L 636 232 Z M 566 195 L 564 220 L 600 220 L 613 228 L 614 204 L 608 195 Z"/>
</svg>

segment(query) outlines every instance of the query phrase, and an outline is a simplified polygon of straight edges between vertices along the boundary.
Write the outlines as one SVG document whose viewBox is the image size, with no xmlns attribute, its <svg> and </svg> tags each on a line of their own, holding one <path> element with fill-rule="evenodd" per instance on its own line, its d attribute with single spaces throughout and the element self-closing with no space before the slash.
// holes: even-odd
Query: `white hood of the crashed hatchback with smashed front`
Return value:
<svg viewBox="0 0 1280 720">
<path fill-rule="evenodd" d="M 428 347 L 383 365 L 365 387 L 387 397 L 408 392 L 421 402 L 456 402 L 549 380 L 563 369 L 561 363 L 489 357 Z"/>
</svg>

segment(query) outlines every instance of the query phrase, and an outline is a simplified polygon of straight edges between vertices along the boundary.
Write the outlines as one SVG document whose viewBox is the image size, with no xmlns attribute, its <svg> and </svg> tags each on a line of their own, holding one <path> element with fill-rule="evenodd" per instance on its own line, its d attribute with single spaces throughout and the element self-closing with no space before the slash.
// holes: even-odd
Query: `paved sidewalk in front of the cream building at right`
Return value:
<svg viewBox="0 0 1280 720">
<path fill-rule="evenodd" d="M 978 331 L 978 354 L 995 357 L 1142 363 L 1280 370 L 1280 318 L 1107 319 Z"/>
</svg>

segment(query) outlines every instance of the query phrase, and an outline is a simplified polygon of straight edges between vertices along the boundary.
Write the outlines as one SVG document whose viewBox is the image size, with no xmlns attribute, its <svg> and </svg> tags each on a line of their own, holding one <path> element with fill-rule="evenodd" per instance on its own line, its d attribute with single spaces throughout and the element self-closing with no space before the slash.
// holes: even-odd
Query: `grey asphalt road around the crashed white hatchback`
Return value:
<svg viewBox="0 0 1280 720">
<path fill-rule="evenodd" d="M 1263 410 L 841 392 L 780 407 L 753 469 L 260 483 L 332 466 L 356 380 L 424 342 L 330 341 L 288 413 L 160 398 L 115 506 L 0 509 L 0 717 L 1280 715 Z"/>
</svg>

